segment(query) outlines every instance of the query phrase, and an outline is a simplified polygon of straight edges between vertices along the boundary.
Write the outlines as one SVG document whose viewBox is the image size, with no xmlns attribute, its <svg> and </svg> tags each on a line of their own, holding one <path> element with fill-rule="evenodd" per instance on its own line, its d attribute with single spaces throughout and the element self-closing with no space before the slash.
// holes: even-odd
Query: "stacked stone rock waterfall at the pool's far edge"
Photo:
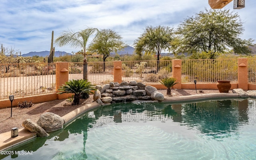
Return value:
<svg viewBox="0 0 256 160">
<path fill-rule="evenodd" d="M 153 86 L 146 86 L 140 82 L 110 82 L 103 86 L 96 86 L 94 101 L 102 103 L 132 102 L 134 100 L 163 101 L 164 95 Z"/>
</svg>

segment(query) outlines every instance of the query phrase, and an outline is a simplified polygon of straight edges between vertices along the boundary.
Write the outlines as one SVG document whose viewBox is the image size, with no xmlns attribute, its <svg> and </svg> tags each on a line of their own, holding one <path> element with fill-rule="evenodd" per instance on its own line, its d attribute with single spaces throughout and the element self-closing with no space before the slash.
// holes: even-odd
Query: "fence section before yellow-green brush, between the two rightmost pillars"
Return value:
<svg viewBox="0 0 256 160">
<path fill-rule="evenodd" d="M 182 60 L 182 83 L 238 82 L 238 59 Z"/>
</svg>

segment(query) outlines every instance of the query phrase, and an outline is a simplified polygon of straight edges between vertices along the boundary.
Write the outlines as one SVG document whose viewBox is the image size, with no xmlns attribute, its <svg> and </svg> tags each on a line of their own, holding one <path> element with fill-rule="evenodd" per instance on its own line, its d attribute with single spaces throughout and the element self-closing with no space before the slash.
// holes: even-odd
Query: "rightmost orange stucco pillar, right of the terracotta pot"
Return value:
<svg viewBox="0 0 256 160">
<path fill-rule="evenodd" d="M 238 58 L 238 88 L 248 90 L 247 58 Z"/>
</svg>

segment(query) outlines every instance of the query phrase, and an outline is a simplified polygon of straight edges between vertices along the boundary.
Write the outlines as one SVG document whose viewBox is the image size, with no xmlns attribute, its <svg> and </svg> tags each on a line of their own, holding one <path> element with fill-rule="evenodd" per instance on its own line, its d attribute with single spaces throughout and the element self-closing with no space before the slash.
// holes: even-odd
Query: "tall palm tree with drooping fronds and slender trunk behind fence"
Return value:
<svg viewBox="0 0 256 160">
<path fill-rule="evenodd" d="M 88 42 L 89 37 L 96 32 L 96 36 L 100 33 L 97 28 L 86 28 L 85 30 L 81 30 L 79 32 L 73 32 L 72 30 L 64 31 L 62 34 L 55 40 L 55 44 L 62 47 L 65 45 L 69 45 L 74 48 L 82 48 L 84 54 L 84 72 L 83 78 L 84 80 L 88 79 L 88 69 L 87 69 L 87 59 L 86 59 L 86 44 Z M 95 38 L 94 37 L 94 38 Z"/>
</svg>

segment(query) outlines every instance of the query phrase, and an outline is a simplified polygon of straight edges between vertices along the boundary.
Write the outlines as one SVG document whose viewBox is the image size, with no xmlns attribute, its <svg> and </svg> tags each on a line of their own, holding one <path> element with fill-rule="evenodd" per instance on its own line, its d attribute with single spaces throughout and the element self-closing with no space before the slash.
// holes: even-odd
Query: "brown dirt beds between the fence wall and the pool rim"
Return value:
<svg viewBox="0 0 256 160">
<path fill-rule="evenodd" d="M 165 97 L 170 95 L 166 94 L 166 90 L 158 90 L 163 93 Z M 207 94 L 207 93 L 219 93 L 218 90 L 171 90 L 172 97 L 175 96 L 189 96 L 195 94 Z M 67 99 L 64 100 L 52 100 L 49 102 L 42 102 L 32 105 L 30 108 L 18 108 L 14 106 L 12 108 L 2 108 L 0 109 L 0 134 L 8 132 L 11 128 L 18 127 L 23 128 L 22 122 L 26 119 L 31 119 L 33 122 L 37 122 L 41 114 L 45 112 L 52 112 L 58 114 L 59 116 L 64 116 L 65 114 L 75 110 L 76 108 L 90 104 L 93 102 L 93 95 L 90 95 L 88 99 L 80 99 L 80 104 L 77 106 L 72 106 L 71 102 Z"/>
</svg>

